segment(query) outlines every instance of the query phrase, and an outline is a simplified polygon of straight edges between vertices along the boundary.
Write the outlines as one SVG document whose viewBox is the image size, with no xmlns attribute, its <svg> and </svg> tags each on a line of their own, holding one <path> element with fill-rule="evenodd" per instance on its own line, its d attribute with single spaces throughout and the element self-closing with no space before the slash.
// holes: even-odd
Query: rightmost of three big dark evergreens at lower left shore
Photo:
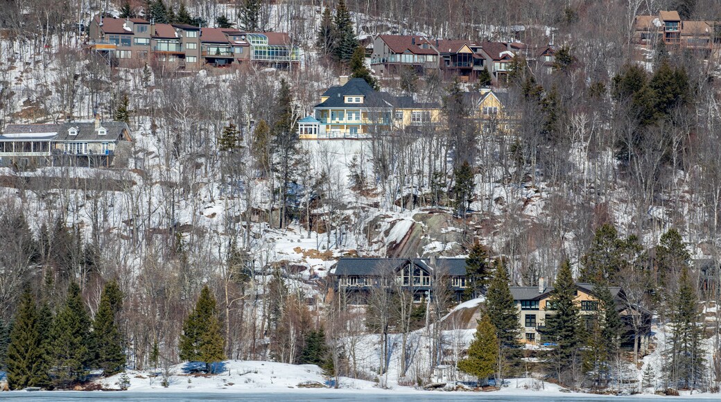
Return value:
<svg viewBox="0 0 721 402">
<path fill-rule="evenodd" d="M 125 368 L 123 336 L 117 324 L 122 298 L 118 282 L 107 282 L 93 321 L 91 339 L 94 367 L 102 369 L 103 375 L 113 375 Z"/>
</svg>

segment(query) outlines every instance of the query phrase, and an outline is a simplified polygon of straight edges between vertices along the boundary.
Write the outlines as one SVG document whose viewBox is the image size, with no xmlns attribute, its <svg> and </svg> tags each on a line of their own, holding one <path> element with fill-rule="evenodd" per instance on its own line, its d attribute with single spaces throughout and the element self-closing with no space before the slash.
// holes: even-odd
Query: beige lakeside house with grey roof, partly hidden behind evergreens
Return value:
<svg viewBox="0 0 721 402">
<path fill-rule="evenodd" d="M 632 349 L 635 340 L 638 342 L 640 350 L 645 349 L 648 346 L 650 334 L 650 313 L 640 307 L 629 308 L 624 301 L 624 292 L 620 287 L 609 287 L 609 290 L 616 300 L 616 308 L 622 321 L 629 324 L 630 321 L 636 320 L 642 326 L 638 339 L 634 339 L 634 334 L 630 330 L 622 334 L 622 347 Z M 544 285 L 544 279 L 541 278 L 538 286 L 512 286 L 510 292 L 518 306 L 519 325 L 523 329 L 521 341 L 527 344 L 548 344 L 549 341 L 544 340 L 544 329 L 547 317 L 555 313 L 549 303 L 553 295 L 553 287 Z M 588 283 L 577 283 L 575 303 L 578 304 L 582 316 L 590 317 L 598 310 L 598 295 L 594 286 Z"/>
</svg>

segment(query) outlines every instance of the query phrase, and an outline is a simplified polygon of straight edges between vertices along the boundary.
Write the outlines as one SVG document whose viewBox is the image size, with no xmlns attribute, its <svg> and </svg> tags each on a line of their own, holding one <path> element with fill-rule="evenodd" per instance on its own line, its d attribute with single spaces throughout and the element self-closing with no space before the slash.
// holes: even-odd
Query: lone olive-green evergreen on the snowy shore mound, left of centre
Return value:
<svg viewBox="0 0 721 402">
<path fill-rule="evenodd" d="M 216 298 L 207 285 L 203 286 L 195 308 L 183 321 L 178 347 L 180 359 L 205 362 L 208 372 L 212 372 L 212 363 L 225 359 Z"/>
</svg>

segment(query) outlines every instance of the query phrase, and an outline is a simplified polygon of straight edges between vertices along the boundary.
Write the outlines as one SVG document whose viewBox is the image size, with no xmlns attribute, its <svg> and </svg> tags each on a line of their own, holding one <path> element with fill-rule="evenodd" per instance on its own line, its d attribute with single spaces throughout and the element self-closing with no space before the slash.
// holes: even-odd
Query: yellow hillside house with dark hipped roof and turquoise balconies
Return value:
<svg viewBox="0 0 721 402">
<path fill-rule="evenodd" d="M 432 129 L 441 119 L 435 103 L 415 102 L 376 91 L 364 79 L 341 79 L 313 107 L 314 114 L 298 122 L 301 140 L 370 138 L 399 130 Z"/>
</svg>

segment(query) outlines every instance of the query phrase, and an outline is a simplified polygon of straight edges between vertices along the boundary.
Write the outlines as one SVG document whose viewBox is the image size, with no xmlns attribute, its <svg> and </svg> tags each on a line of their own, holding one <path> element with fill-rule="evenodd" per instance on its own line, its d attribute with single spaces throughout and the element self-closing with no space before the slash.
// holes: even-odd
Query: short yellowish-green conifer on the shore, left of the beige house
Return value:
<svg viewBox="0 0 721 402">
<path fill-rule="evenodd" d="M 478 321 L 476 334 L 468 348 L 468 357 L 458 362 L 458 369 L 479 380 L 489 378 L 495 372 L 498 359 L 498 339 L 496 329 L 488 313 L 483 313 Z"/>
</svg>

